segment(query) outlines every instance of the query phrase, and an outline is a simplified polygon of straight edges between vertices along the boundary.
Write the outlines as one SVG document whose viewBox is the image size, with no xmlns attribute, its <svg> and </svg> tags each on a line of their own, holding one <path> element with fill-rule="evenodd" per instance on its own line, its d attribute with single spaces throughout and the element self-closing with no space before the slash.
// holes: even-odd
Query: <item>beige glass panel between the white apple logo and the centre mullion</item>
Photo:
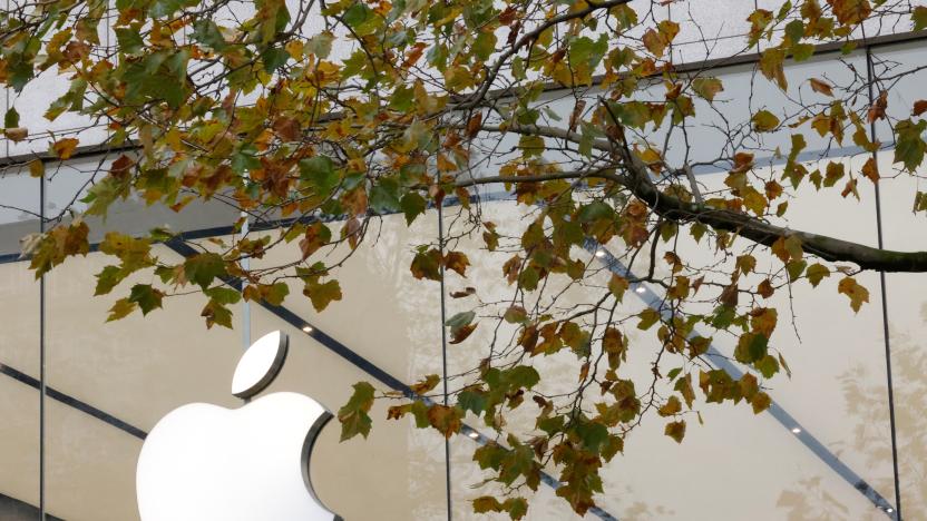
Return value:
<svg viewBox="0 0 927 521">
<path fill-rule="evenodd" d="M 251 304 L 253 337 L 276 328 L 291 335 L 286 367 L 273 390 L 305 393 L 335 412 L 358 381 L 390 391 L 390 382 L 441 374 L 439 286 L 416 281 L 409 271 L 413 247 L 436 238 L 437 223 L 435 212 L 420 216 L 410 228 L 402 215 L 373 219 L 368 242 L 335 272 L 342 299 L 321 313 L 302 295 L 299 282 L 290 286 L 284 313 Z M 339 236 L 341 224 L 328 225 Z M 276 237 L 279 230 L 269 233 Z M 334 263 L 345 253 L 347 247 L 339 247 L 324 258 Z M 253 259 L 252 268 L 300 257 L 294 240 Z M 305 324 L 311 324 L 310 333 L 301 330 Z M 344 350 L 359 356 L 357 363 L 339 354 Z M 384 382 L 378 375 L 394 380 Z M 344 519 L 370 518 L 372 505 L 377 519 L 446 519 L 443 439 L 431 430 L 417 430 L 411 419 L 388 421 L 388 405 L 377 402 L 367 441 L 339 443 L 336 420 L 322 431 L 312 465 L 319 498 Z"/>
</svg>

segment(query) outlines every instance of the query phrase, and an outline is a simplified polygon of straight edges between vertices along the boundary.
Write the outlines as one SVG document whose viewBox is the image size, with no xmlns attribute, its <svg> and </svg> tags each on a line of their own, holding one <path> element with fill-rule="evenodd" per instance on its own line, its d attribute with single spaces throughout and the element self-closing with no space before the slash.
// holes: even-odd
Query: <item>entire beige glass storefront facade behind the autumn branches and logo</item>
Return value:
<svg viewBox="0 0 927 521">
<path fill-rule="evenodd" d="M 742 33 L 715 23 L 708 8 L 699 7 L 709 3 L 713 2 L 692 0 L 682 13 L 671 6 L 654 16 L 695 20 L 714 28 L 712 38 L 719 47 L 712 48 L 713 58 L 723 55 L 725 46 L 732 52 L 742 47 Z M 744 3 L 752 8 L 753 2 Z M 696 42 L 700 37 L 682 36 L 689 41 L 681 40 L 674 49 L 679 59 L 704 58 L 704 43 Z M 867 53 L 871 55 L 876 77 L 897 63 L 913 68 L 927 58 L 923 41 L 861 46 L 850 56 L 826 53 L 809 63 L 792 66 L 790 78 L 798 83 L 826 76 L 839 82 L 841 75 L 868 69 Z M 719 95 L 718 114 L 705 115 L 708 119 L 701 121 L 705 126 L 716 122 L 712 117 L 743 120 L 752 114 L 757 107 L 744 99 L 747 89 L 754 89 L 752 100 L 789 104 L 780 99 L 781 92 L 772 85 L 753 83 L 757 70 L 752 62 L 718 70 L 726 90 Z M 897 117 L 906 117 L 902 111 L 924 97 L 921 78 L 915 75 L 892 86 L 897 99 L 889 104 L 889 110 L 898 110 Z M 52 95 L 38 91 L 32 96 Z M 40 101 L 19 98 L 16 105 Z M 568 114 L 573 98 L 552 91 L 547 102 L 554 111 Z M 866 102 L 859 99 L 860 106 Z M 64 127 L 58 130 L 67 132 L 77 122 L 59 125 Z M 877 132 L 884 144 L 879 165 L 890 171 L 891 144 L 886 142 L 890 134 L 885 128 Z M 807 136 L 808 151 L 801 159 L 809 164 L 842 158 L 858 166 L 868 158 L 852 146 L 838 147 Z M 648 137 L 660 137 L 660 130 Z M 705 131 L 694 139 L 694 150 L 716 151 L 724 146 L 725 137 Z M 778 145 L 783 144 L 763 144 L 769 150 Z M 36 149 L 35 145 L 30 149 L 28 142 L 4 141 L 3 146 L 13 159 L 23 159 L 21 154 Z M 669 153 L 671 158 L 682 154 L 679 149 Z M 497 279 L 506 254 L 478 250 L 479 238 L 466 236 L 466 223 L 451 218 L 457 215 L 452 201 L 442 209 L 445 219 L 439 219 L 437 210 L 429 210 L 411 228 L 402 216 L 383 216 L 374 230 L 375 242 L 363 245 L 340 272 L 344 299 L 324 313 L 315 313 L 310 302 L 301 298 L 290 298 L 283 308 L 240 305 L 233 330 L 216 327 L 207 332 L 199 317 L 205 301 L 188 295 L 146 317 L 131 315 L 105 323 L 114 298 L 91 297 L 96 284 L 92 275 L 107 264 L 104 255 L 89 253 L 68 260 L 43 281 L 36 281 L 28 259 L 18 255 L 20 238 L 39 232 L 40 216 L 55 218 L 71 206 L 75 194 L 86 189 L 94 174 L 111 159 L 101 159 L 105 157 L 74 159 L 46 180 L 32 178 L 21 165 L 17 166 L 22 160 L 12 160 L 13 166 L 0 170 L 0 519 L 39 519 L 40 509 L 48 519 L 137 519 L 135 464 L 147 432 L 185 403 L 238 406 L 241 402 L 228 391 L 236 361 L 250 340 L 269 331 L 282 330 L 291 338 L 286 365 L 270 391 L 305 393 L 331 411 L 347 401 L 357 381 L 371 381 L 384 391 L 397 390 L 426 374 L 467 371 L 482 356 L 448 345 L 442 337 L 443 320 L 465 305 L 448 295 L 464 286 L 476 286 L 487 299 L 504 299 L 508 288 L 497 287 Z M 773 154 L 758 157 L 757 163 L 770 171 L 782 167 Z M 696 174 L 706 186 L 724 180 L 724 171 L 713 167 Z M 866 244 L 882 240 L 888 248 L 927 249 L 923 217 L 909 210 L 915 183 L 916 178 L 902 176 L 884 180 L 879 185 L 878 213 L 877 194 L 868 181 L 859 185 L 861 204 L 837 194 L 798 197 L 791 208 L 793 223 Z M 482 210 L 491 214 L 500 228 L 519 223 L 525 212 L 521 207 L 510 200 L 496 200 L 491 189 L 481 195 Z M 822 214 L 839 215 L 840 219 L 821 219 Z M 167 224 L 205 240 L 231 233 L 236 218 L 236 213 L 218 204 L 178 215 L 167 208 L 145 208 L 143 201 L 127 201 L 92 228 L 98 234 L 95 240 L 99 240 L 106 229 L 133 233 Z M 447 275 L 443 292 L 438 283 L 413 279 L 408 268 L 412 246 L 438 236 L 459 237 L 455 239 L 460 243 L 457 248 L 468 252 L 471 262 L 468 278 Z M 468 247 L 468 242 L 474 247 Z M 612 246 L 602 245 L 606 250 L 621 249 Z M 694 245 L 681 247 L 690 248 L 693 256 L 711 255 Z M 179 258 L 188 252 L 165 244 L 157 246 L 157 254 Z M 295 243 L 274 249 L 269 258 L 254 260 L 254 266 L 293 256 L 297 256 Z M 597 262 L 591 250 L 591 265 Z M 621 262 L 606 256 L 598 283 L 604 285 L 608 269 Z M 595 283 L 593 277 L 589 284 Z M 921 519 L 927 511 L 927 354 L 923 348 L 927 282 L 923 276 L 888 275 L 882 286 L 878 274 L 868 273 L 860 276 L 860 283 L 870 289 L 870 304 L 858 315 L 833 288 L 811 292 L 796 287 L 793 298 L 784 294 L 777 297 L 777 305 L 791 305 L 793 311 L 794 327 L 782 327 L 777 333 L 793 374 L 790 380 L 774 382 L 770 395 L 775 404 L 770 412 L 754 417 L 744 407 L 704 406 L 704 424 L 693 425 L 681 445 L 663 435 L 662 423 L 645 422 L 628 440 L 626 455 L 616 458 L 603 471 L 608 493 L 589 517 L 878 520 L 892 517 L 887 510 L 896 504 L 897 482 L 905 518 Z M 833 281 L 829 284 L 836 286 Z M 594 289 L 573 287 L 565 298 L 579 302 Z M 300 293 L 296 286 L 291 291 L 293 295 Z M 632 309 L 643 308 L 657 294 L 657 288 L 644 287 L 624 304 Z M 492 334 L 489 328 L 477 330 L 468 344 L 489 342 Z M 654 342 L 643 335 L 632 341 L 642 352 Z M 733 338 L 718 338 L 713 345 L 719 366 L 740 371 L 722 356 L 732 353 L 733 347 Z M 887 353 L 892 364 L 890 390 Z M 572 382 L 575 376 L 563 368 L 572 370 L 572 365 L 558 362 L 554 356 L 537 361 L 537 366 L 552 381 L 562 377 Z M 650 371 L 644 357 L 634 360 L 632 355 L 630 363 L 640 374 Z M 451 379 L 451 390 L 456 382 Z M 892 468 L 889 391 L 894 392 L 900 462 L 897 475 Z M 323 430 L 312 456 L 313 483 L 320 499 L 351 521 L 484 519 L 472 513 L 470 500 L 487 493 L 475 486 L 485 475 L 471 461 L 475 444 L 485 438 L 459 435 L 446 444 L 432 431 L 416 430 L 411 421 L 387 421 L 388 405 L 378 402 L 374 406 L 374 429 L 365 442 L 339 443 L 336 423 Z M 475 432 L 492 435 L 472 417 L 468 422 Z M 525 425 L 514 416 L 509 427 Z M 556 473 L 552 470 L 548 475 L 528 518 L 578 519 L 555 495 Z"/>
</svg>

